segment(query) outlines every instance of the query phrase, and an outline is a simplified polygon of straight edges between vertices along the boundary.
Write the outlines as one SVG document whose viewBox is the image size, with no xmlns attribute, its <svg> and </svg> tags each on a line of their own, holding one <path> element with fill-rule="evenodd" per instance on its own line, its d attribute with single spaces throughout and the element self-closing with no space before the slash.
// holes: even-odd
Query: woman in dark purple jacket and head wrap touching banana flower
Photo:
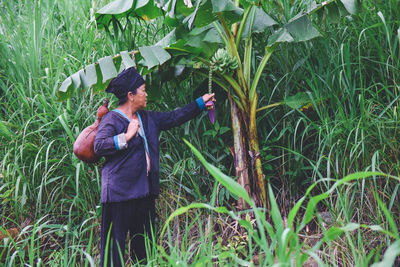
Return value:
<svg viewBox="0 0 400 267">
<path fill-rule="evenodd" d="M 131 256 L 138 261 L 146 258 L 144 235 L 151 232 L 155 199 L 160 193 L 160 131 L 193 119 L 207 101 L 215 99 L 214 94 L 205 94 L 171 112 L 143 110 L 147 104 L 145 81 L 133 67 L 114 78 L 106 92 L 118 98 L 119 106 L 102 118 L 94 143 L 95 153 L 105 157 L 100 265 L 110 266 L 112 261 L 113 266 L 121 266 L 128 231 Z"/>
</svg>

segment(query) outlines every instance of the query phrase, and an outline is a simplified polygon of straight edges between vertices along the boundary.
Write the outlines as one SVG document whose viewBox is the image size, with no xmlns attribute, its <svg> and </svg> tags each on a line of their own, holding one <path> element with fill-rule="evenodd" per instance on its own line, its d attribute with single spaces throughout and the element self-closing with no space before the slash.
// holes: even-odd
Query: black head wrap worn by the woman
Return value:
<svg viewBox="0 0 400 267">
<path fill-rule="evenodd" d="M 113 93 L 118 99 L 126 97 L 128 92 L 136 94 L 136 89 L 144 84 L 143 77 L 134 67 L 123 70 L 108 85 L 106 92 Z"/>
</svg>

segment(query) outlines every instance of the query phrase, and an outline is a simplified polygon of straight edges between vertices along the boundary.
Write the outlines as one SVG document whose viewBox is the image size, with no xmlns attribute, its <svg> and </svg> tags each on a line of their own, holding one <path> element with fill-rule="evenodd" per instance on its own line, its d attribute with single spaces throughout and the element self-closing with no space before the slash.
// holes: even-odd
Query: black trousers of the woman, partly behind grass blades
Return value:
<svg viewBox="0 0 400 267">
<path fill-rule="evenodd" d="M 100 266 L 106 263 L 106 266 L 122 266 L 121 258 L 124 258 L 128 231 L 131 237 L 131 257 L 138 261 L 146 259 L 144 235 L 151 237 L 151 227 L 154 227 L 154 197 L 104 203 L 102 212 Z"/>
</svg>

